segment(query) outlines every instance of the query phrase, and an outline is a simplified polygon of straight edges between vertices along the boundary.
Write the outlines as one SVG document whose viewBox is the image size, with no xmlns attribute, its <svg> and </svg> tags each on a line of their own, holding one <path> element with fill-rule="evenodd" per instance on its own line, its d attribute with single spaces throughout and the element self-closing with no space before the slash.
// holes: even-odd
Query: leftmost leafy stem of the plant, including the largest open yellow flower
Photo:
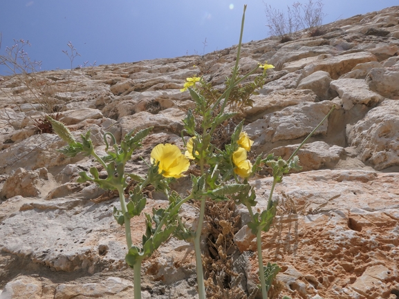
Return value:
<svg viewBox="0 0 399 299">
<path fill-rule="evenodd" d="M 133 131 L 128 133 L 120 144 L 116 144 L 115 137 L 111 133 L 104 134 L 104 142 L 106 143 L 106 152 L 108 155 L 100 157 L 94 151 L 93 144 L 90 139 L 90 131 L 86 135 L 81 135 L 82 142 L 77 142 L 71 132 L 55 119 L 48 117 L 48 121 L 55 129 L 55 133 L 62 137 L 68 143 L 67 146 L 60 149 L 62 153 L 73 157 L 78 153 L 91 155 L 100 162 L 107 177 L 100 178 L 98 169 L 90 168 L 90 175 L 85 171 L 80 173 L 77 182 L 95 182 L 102 189 L 116 190 L 119 194 L 121 210 L 113 208 L 113 216 L 118 224 L 124 226 L 125 237 L 127 242 L 127 255 L 125 260 L 130 267 L 133 268 L 133 285 L 134 298 L 141 298 L 141 264 L 145 258 L 151 256 L 160 244 L 170 238 L 171 234 L 179 233 L 180 238 L 188 239 L 187 231 L 182 226 L 178 216 L 180 206 L 190 200 L 192 195 L 187 196 L 184 200 L 180 198 L 178 193 L 171 191 L 169 184 L 174 178 L 181 177 L 184 171 L 189 167 L 187 157 L 180 153 L 177 146 L 172 144 L 159 144 L 151 152 L 151 166 L 146 177 L 140 177 L 132 173 L 125 173 L 124 167 L 127 161 L 131 159 L 133 151 L 141 146 L 140 142 L 151 131 L 147 128 L 138 131 L 133 135 Z M 107 137 L 111 138 L 113 145 L 109 150 L 109 142 Z M 129 193 L 129 202 L 125 200 L 124 189 L 128 186 L 129 180 L 136 182 L 133 191 Z M 145 209 L 147 197 L 142 192 L 146 186 L 152 184 L 157 191 L 165 193 L 169 200 L 169 204 L 165 209 L 153 209 L 152 215 L 145 213 L 146 231 L 142 235 L 142 244 L 140 246 L 133 245 L 131 239 L 130 220 L 134 216 L 138 216 Z M 178 230 L 177 230 L 178 229 Z"/>
</svg>

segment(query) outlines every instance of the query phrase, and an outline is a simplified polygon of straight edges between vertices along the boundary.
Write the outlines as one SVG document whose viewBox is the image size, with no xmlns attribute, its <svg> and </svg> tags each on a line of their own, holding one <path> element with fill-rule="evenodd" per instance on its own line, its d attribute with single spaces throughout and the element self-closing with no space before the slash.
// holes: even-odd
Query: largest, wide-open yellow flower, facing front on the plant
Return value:
<svg viewBox="0 0 399 299">
<path fill-rule="evenodd" d="M 158 173 L 164 177 L 182 177 L 189 168 L 189 160 L 173 144 L 158 144 L 151 151 L 151 163 L 159 162 Z"/>
</svg>

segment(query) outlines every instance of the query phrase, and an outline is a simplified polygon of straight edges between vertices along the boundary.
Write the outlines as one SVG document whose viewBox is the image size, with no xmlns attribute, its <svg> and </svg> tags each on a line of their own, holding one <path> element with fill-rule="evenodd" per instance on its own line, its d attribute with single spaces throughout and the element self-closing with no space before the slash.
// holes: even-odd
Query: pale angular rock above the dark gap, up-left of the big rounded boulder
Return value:
<svg viewBox="0 0 399 299">
<path fill-rule="evenodd" d="M 378 93 L 371 91 L 366 82 L 361 79 L 337 79 L 332 81 L 330 86 L 342 99 L 345 110 L 350 110 L 355 104 L 372 106 L 384 99 Z"/>
</svg>

